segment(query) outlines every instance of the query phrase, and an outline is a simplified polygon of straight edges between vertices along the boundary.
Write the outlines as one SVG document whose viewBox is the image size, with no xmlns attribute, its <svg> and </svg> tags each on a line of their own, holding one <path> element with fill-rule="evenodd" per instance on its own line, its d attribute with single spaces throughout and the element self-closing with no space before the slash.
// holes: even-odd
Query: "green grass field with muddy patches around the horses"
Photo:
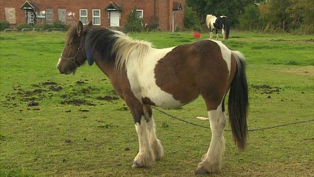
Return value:
<svg viewBox="0 0 314 177">
<path fill-rule="evenodd" d="M 210 131 L 155 111 L 165 156 L 151 168 L 132 169 L 138 142 L 131 113 L 95 64 L 75 75 L 58 73 L 64 35 L 0 33 L 0 176 L 193 176 L 209 148 Z M 156 48 L 199 40 L 190 33 L 130 35 Z M 314 117 L 313 38 L 232 32 L 223 41 L 248 63 L 249 128 Z M 202 98 L 166 111 L 209 125 L 195 118 L 207 116 Z M 224 168 L 214 177 L 314 176 L 313 121 L 249 132 L 244 152 L 230 132 L 224 136 Z"/>
</svg>

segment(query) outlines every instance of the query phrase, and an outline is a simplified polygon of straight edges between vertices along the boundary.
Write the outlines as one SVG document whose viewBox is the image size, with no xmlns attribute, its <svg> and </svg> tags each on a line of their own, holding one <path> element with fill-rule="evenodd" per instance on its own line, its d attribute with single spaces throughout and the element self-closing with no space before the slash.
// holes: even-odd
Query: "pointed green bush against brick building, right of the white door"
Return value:
<svg viewBox="0 0 314 177">
<path fill-rule="evenodd" d="M 131 13 L 127 17 L 127 23 L 124 25 L 126 32 L 141 32 L 143 30 L 143 19 L 136 17 L 136 5 L 134 4 Z"/>
</svg>

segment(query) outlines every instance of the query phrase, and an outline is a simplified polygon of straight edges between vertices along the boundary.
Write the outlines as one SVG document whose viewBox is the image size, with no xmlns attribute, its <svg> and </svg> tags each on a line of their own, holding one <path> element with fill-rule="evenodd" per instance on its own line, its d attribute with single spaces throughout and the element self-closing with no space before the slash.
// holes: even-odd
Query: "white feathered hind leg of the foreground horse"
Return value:
<svg viewBox="0 0 314 177">
<path fill-rule="evenodd" d="M 220 172 L 222 169 L 222 157 L 225 146 L 223 130 L 226 124 L 226 115 L 222 112 L 222 102 L 215 110 L 209 109 L 209 101 L 206 101 L 211 129 L 211 141 L 208 152 L 198 164 L 195 174 Z"/>
</svg>

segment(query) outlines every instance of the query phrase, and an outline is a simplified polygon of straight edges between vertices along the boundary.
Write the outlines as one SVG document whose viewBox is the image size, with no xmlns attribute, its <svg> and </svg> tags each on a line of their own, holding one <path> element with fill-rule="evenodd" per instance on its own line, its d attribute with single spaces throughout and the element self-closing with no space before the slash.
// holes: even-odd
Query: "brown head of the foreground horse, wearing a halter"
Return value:
<svg viewBox="0 0 314 177">
<path fill-rule="evenodd" d="M 82 65 L 86 60 L 84 41 L 86 31 L 92 27 L 89 22 L 83 28 L 83 24 L 78 22 L 78 26 L 72 27 L 66 34 L 66 43 L 63 52 L 57 63 L 57 68 L 61 74 L 75 73 L 78 66 Z"/>
</svg>

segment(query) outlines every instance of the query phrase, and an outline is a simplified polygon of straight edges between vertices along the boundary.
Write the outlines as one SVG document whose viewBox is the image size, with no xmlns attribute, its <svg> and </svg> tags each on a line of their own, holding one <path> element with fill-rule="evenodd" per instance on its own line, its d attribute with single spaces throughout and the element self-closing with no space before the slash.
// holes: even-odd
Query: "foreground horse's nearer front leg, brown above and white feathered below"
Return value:
<svg viewBox="0 0 314 177">
<path fill-rule="evenodd" d="M 143 105 L 135 97 L 131 100 L 126 99 L 126 102 L 134 119 L 139 144 L 139 151 L 134 158 L 132 168 L 152 166 L 155 155 L 149 141 L 148 119 L 144 116 Z"/>
</svg>

